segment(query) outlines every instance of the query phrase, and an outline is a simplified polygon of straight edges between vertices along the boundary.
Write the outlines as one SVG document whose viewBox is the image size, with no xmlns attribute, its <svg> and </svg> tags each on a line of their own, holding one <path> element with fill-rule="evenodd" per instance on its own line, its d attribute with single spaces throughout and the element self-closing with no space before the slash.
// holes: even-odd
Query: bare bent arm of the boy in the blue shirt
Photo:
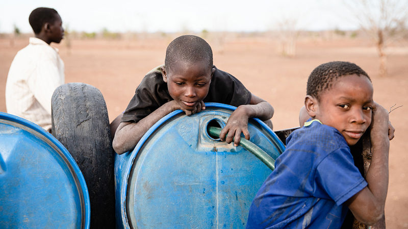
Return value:
<svg viewBox="0 0 408 229">
<path fill-rule="evenodd" d="M 346 201 L 354 217 L 371 225 L 384 215 L 388 190 L 388 111 L 375 104 L 371 123 L 372 159 L 367 171 L 368 186 Z"/>
</svg>

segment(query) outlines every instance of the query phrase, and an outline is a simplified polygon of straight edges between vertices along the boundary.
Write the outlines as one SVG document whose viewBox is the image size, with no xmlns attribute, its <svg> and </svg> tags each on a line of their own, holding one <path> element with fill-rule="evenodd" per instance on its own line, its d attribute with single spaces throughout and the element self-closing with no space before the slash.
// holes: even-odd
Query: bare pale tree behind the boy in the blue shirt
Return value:
<svg viewBox="0 0 408 229">
<path fill-rule="evenodd" d="M 375 42 L 379 72 L 387 75 L 386 47 L 407 34 L 408 0 L 344 1 L 359 20 L 360 27 Z"/>
</svg>

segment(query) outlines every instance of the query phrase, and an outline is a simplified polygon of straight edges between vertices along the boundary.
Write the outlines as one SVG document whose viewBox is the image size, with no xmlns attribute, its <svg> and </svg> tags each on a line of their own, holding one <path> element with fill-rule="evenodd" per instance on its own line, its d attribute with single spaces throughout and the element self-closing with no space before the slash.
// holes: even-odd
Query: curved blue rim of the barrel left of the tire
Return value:
<svg viewBox="0 0 408 229">
<path fill-rule="evenodd" d="M 5 121 L 1 121 L 1 120 L 5 120 Z M 71 174 L 73 175 L 73 178 L 75 180 L 75 186 L 77 186 L 77 189 L 79 191 L 79 195 L 81 198 L 82 211 L 85 213 L 85 214 L 82 214 L 82 220 L 81 220 L 82 228 L 89 228 L 90 227 L 90 201 L 89 201 L 88 188 L 86 186 L 86 182 L 85 182 L 84 176 L 80 168 L 78 167 L 75 160 L 72 158 L 71 154 L 65 148 L 65 146 L 62 145 L 62 143 L 59 142 L 52 134 L 46 132 L 43 128 L 41 128 L 41 126 L 27 119 L 18 117 L 16 115 L 0 112 L 0 123 L 6 123 L 6 124 L 10 124 L 18 128 L 21 128 L 22 130 L 27 131 L 33 134 L 34 136 L 40 138 L 41 140 L 43 140 L 45 143 L 47 143 L 49 146 L 51 146 L 54 150 L 58 152 L 58 154 L 62 157 L 63 161 L 66 162 L 67 167 L 71 171 Z"/>
</svg>

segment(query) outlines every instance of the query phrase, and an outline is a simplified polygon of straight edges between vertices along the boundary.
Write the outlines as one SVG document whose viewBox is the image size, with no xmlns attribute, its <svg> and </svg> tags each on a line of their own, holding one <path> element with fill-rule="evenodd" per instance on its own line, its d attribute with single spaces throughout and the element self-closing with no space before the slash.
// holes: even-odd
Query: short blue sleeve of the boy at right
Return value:
<svg viewBox="0 0 408 229">
<path fill-rule="evenodd" d="M 315 180 L 317 188 L 323 189 L 338 206 L 367 186 L 348 147 L 330 152 L 317 166 Z"/>
</svg>

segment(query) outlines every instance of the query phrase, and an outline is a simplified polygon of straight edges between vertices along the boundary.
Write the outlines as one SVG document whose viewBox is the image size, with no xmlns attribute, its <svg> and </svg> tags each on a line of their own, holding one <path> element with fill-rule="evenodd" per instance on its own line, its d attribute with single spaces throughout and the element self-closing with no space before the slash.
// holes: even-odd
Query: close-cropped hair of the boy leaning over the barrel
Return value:
<svg viewBox="0 0 408 229">
<path fill-rule="evenodd" d="M 164 66 L 170 71 L 176 61 L 189 63 L 206 62 L 213 67 L 213 50 L 202 38 L 194 35 L 183 35 L 170 42 L 166 49 Z"/>
</svg>

